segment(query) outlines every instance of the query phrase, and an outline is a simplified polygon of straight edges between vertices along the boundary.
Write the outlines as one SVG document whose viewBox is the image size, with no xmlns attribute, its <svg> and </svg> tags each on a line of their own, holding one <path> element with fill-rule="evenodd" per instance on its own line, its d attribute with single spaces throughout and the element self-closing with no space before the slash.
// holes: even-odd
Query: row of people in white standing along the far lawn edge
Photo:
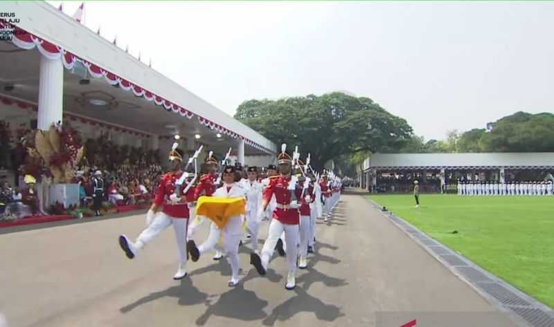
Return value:
<svg viewBox="0 0 554 327">
<path fill-rule="evenodd" d="M 546 196 L 553 195 L 554 185 L 548 182 L 470 182 L 458 183 L 458 195 L 467 196 Z"/>
</svg>

